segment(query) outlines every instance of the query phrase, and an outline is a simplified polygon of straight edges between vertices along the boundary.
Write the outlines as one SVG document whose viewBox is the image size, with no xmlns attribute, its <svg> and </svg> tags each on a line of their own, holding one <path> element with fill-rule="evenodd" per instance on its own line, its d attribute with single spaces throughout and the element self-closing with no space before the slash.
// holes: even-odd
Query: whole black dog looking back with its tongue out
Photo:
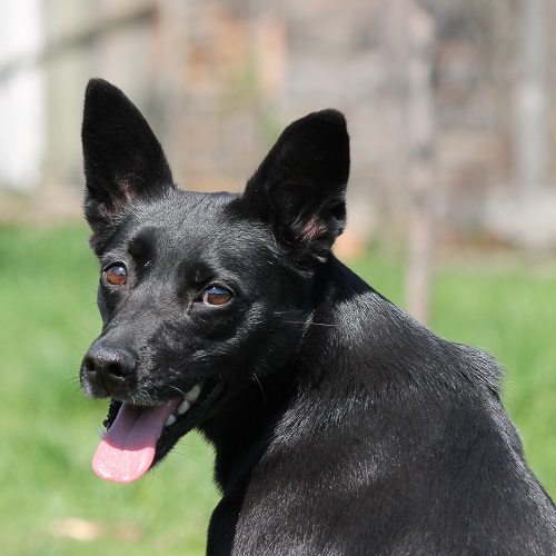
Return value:
<svg viewBox="0 0 556 556">
<path fill-rule="evenodd" d="M 82 139 L 103 328 L 81 383 L 112 400 L 99 476 L 135 480 L 197 427 L 222 492 L 211 555 L 555 554 L 555 508 L 496 363 L 330 252 L 349 173 L 340 113 L 290 125 L 242 195 L 173 186 L 106 81 L 89 83 Z"/>
</svg>

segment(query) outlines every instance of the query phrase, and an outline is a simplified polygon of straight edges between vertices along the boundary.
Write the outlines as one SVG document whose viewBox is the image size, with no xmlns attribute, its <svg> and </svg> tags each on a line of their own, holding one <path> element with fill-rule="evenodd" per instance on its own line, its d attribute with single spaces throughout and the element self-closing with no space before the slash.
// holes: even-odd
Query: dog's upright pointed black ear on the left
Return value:
<svg viewBox="0 0 556 556">
<path fill-rule="evenodd" d="M 85 95 L 85 216 L 103 226 L 137 198 L 172 187 L 170 167 L 147 120 L 117 87 L 91 79 Z"/>
</svg>

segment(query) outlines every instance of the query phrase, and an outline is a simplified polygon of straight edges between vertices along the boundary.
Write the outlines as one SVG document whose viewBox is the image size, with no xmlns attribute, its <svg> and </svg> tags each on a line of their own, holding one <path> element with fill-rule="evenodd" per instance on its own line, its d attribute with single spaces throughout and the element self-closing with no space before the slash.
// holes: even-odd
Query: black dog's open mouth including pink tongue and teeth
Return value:
<svg viewBox="0 0 556 556">
<path fill-rule="evenodd" d="M 200 423 L 221 391 L 221 380 L 211 379 L 158 406 L 112 400 L 92 460 L 95 473 L 115 483 L 139 479 Z"/>
</svg>

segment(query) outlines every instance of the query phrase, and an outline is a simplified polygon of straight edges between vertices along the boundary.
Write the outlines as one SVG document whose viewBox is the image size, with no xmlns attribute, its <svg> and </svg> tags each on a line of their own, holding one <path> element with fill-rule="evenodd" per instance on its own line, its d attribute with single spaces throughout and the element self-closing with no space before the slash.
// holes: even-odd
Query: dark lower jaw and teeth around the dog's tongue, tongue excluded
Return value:
<svg viewBox="0 0 556 556">
<path fill-rule="evenodd" d="M 165 406 L 168 408 L 168 418 L 163 424 L 158 440 L 156 443 L 155 458 L 150 468 L 155 467 L 176 446 L 181 437 L 200 425 L 218 406 L 224 393 L 224 381 L 220 378 L 212 378 L 202 384 L 196 385 L 188 393 L 179 398 L 172 398 L 165 403 L 153 401 L 143 405 L 135 405 L 119 399 L 111 399 L 108 415 L 102 423 L 109 430 L 118 418 L 118 414 L 123 406 L 136 410 L 156 408 Z"/>
</svg>

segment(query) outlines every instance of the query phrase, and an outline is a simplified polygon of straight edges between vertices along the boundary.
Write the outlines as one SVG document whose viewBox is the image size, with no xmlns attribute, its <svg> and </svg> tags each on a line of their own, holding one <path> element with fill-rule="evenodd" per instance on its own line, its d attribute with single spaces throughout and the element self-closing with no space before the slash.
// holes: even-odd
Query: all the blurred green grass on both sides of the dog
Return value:
<svg viewBox="0 0 556 556">
<path fill-rule="evenodd" d="M 399 265 L 374 252 L 354 267 L 401 302 Z M 0 552 L 202 554 L 218 496 L 198 436 L 136 484 L 105 483 L 90 468 L 106 404 L 83 397 L 78 368 L 100 326 L 97 272 L 83 228 L 0 228 Z M 438 334 L 487 349 L 508 369 L 506 406 L 553 496 L 555 276 L 517 264 L 448 268 L 433 311 Z"/>
</svg>

